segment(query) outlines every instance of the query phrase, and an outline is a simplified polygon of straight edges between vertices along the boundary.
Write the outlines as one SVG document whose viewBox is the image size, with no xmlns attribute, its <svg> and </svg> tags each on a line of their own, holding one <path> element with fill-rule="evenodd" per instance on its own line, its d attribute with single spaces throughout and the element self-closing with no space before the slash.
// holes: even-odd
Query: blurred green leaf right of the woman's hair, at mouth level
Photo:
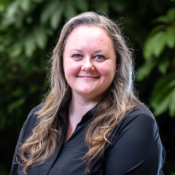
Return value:
<svg viewBox="0 0 175 175">
<path fill-rule="evenodd" d="M 136 79 L 138 81 L 142 81 L 145 77 L 147 77 L 150 74 L 155 65 L 156 62 L 154 60 L 146 61 L 145 64 L 138 69 Z"/>
</svg>

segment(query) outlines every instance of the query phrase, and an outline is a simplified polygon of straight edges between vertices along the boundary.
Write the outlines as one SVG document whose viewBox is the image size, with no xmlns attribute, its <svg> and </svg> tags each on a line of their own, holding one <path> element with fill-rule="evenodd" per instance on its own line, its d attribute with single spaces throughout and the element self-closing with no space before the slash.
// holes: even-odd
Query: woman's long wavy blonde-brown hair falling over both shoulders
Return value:
<svg viewBox="0 0 175 175">
<path fill-rule="evenodd" d="M 51 89 L 44 106 L 37 112 L 39 124 L 33 134 L 20 148 L 24 173 L 29 166 L 44 163 L 54 153 L 61 139 L 62 129 L 57 116 L 65 104 L 71 89 L 67 88 L 63 70 L 63 52 L 67 37 L 79 25 L 94 25 L 104 28 L 111 38 L 116 53 L 117 70 L 108 93 L 100 102 L 94 120 L 89 124 L 85 140 L 89 146 L 83 160 L 87 169 L 91 161 L 103 152 L 112 129 L 140 102 L 133 92 L 132 54 L 128 50 L 118 26 L 106 16 L 94 12 L 82 13 L 71 18 L 63 27 L 59 41 L 53 50 Z M 27 155 L 27 156 L 26 156 Z"/>
</svg>

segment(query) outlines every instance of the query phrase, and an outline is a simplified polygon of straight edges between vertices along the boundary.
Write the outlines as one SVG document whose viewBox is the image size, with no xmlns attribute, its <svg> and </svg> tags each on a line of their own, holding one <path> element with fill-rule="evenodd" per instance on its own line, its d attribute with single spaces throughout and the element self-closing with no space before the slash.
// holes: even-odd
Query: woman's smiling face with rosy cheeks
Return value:
<svg viewBox="0 0 175 175">
<path fill-rule="evenodd" d="M 65 44 L 63 67 L 73 95 L 101 97 L 116 72 L 116 55 L 106 30 L 97 26 L 76 27 Z"/>
</svg>

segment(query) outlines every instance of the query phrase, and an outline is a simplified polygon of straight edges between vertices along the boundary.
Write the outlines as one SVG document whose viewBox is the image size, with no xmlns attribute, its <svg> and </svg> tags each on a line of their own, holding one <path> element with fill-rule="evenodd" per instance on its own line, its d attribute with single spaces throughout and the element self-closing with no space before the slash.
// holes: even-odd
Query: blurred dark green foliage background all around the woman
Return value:
<svg viewBox="0 0 175 175">
<path fill-rule="evenodd" d="M 140 100 L 154 113 L 175 175 L 175 0 L 0 1 L 0 175 L 10 173 L 19 132 L 49 89 L 48 60 L 66 20 L 106 13 L 134 53 Z"/>
</svg>

